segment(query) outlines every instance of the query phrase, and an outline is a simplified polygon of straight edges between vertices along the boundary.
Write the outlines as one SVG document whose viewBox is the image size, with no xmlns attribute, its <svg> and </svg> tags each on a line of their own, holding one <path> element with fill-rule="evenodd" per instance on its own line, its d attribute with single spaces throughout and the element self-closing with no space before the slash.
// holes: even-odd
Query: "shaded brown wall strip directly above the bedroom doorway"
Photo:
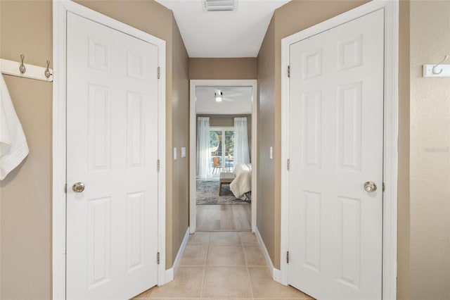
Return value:
<svg viewBox="0 0 450 300">
<path fill-rule="evenodd" d="M 257 59 L 189 58 L 189 79 L 245 80 L 257 76 Z"/>
</svg>

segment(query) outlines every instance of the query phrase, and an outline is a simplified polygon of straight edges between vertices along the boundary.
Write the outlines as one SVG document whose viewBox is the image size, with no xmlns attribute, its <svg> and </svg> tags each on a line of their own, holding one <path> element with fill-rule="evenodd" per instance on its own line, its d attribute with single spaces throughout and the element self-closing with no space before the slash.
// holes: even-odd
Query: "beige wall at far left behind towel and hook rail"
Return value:
<svg viewBox="0 0 450 300">
<path fill-rule="evenodd" d="M 0 11 L 1 58 L 53 60 L 51 1 L 2 0 Z M 50 299 L 52 84 L 4 78 L 30 154 L 0 182 L 0 299 Z"/>
</svg>

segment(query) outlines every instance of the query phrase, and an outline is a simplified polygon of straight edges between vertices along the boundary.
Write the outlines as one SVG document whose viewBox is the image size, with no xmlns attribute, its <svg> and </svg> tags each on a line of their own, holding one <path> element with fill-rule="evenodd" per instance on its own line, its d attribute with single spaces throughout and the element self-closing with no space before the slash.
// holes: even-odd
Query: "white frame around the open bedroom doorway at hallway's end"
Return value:
<svg viewBox="0 0 450 300">
<path fill-rule="evenodd" d="M 252 87 L 252 232 L 256 228 L 256 175 L 257 175 L 257 81 L 256 80 L 191 80 L 191 97 L 189 113 L 189 228 L 194 233 L 197 230 L 197 206 L 196 206 L 196 187 L 195 170 L 197 160 L 197 118 L 195 111 L 195 90 L 196 87 Z"/>
</svg>

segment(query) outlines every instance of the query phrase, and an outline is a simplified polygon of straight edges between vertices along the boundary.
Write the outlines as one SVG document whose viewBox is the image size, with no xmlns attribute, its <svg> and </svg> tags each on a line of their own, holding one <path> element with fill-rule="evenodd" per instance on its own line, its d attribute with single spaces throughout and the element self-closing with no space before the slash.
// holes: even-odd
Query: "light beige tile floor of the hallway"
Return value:
<svg viewBox="0 0 450 300">
<path fill-rule="evenodd" d="M 196 232 L 172 282 L 134 299 L 312 299 L 272 280 L 252 232 Z"/>
</svg>

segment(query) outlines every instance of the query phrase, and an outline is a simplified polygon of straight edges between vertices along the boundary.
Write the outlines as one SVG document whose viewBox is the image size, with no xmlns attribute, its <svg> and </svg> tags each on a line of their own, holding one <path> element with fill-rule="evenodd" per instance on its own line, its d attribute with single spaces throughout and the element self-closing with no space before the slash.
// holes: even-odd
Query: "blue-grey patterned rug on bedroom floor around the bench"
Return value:
<svg viewBox="0 0 450 300">
<path fill-rule="evenodd" d="M 221 204 L 243 204 L 248 205 L 250 201 L 236 199 L 229 185 L 222 185 L 222 194 L 219 196 L 219 179 L 197 180 L 197 204 L 198 205 L 221 205 Z"/>
</svg>

